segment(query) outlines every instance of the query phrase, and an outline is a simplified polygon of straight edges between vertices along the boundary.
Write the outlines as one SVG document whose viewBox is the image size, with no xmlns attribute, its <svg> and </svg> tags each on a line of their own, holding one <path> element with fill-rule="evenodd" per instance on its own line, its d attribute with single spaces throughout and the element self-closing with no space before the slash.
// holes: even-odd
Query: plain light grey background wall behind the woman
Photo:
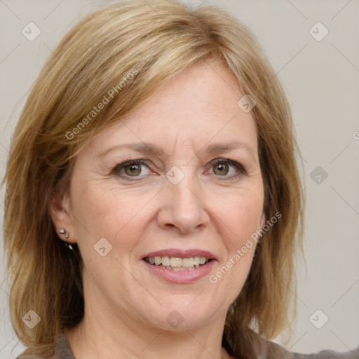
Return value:
<svg viewBox="0 0 359 359">
<path fill-rule="evenodd" d="M 50 51 L 86 14 L 113 2 L 0 0 L 1 177 L 29 86 Z M 307 265 L 297 266 L 292 339 L 276 341 L 303 353 L 348 351 L 359 344 L 359 1 L 190 2 L 222 6 L 250 27 L 292 106 L 305 165 Z M 41 30 L 34 41 L 22 34 L 29 22 Z M 1 224 L 3 199 L 4 188 Z M 4 265 L 0 277 L 0 359 L 8 359 L 23 346 L 11 328 Z"/>
</svg>

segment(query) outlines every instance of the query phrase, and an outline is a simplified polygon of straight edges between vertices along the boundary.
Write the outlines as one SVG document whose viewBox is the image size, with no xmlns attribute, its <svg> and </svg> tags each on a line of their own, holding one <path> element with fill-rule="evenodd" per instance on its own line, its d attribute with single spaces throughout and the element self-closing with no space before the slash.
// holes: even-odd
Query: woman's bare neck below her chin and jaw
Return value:
<svg viewBox="0 0 359 359">
<path fill-rule="evenodd" d="M 173 332 L 144 325 L 126 315 L 119 320 L 88 308 L 81 323 L 65 330 L 65 335 L 76 359 L 229 359 L 222 348 L 223 327 L 224 320 L 216 320 L 206 327 Z"/>
</svg>

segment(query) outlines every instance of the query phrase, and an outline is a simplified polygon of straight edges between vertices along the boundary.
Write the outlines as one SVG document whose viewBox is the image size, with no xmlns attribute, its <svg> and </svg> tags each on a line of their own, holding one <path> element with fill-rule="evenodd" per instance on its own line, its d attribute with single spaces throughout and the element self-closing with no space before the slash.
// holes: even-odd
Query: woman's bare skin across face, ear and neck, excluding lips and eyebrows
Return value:
<svg viewBox="0 0 359 359">
<path fill-rule="evenodd" d="M 215 284 L 208 276 L 168 283 L 142 258 L 167 248 L 208 250 L 217 258 L 213 274 L 263 226 L 257 130 L 252 114 L 237 105 L 243 95 L 224 65 L 198 63 L 79 153 L 69 195 L 50 203 L 56 228 L 69 232 L 67 241 L 78 243 L 83 257 L 85 316 L 65 331 L 77 359 L 229 358 L 221 348 L 226 311 L 241 292 L 256 245 Z M 205 151 L 231 141 L 252 151 Z M 97 157 L 139 142 L 163 153 L 113 149 Z M 245 173 L 211 164 L 216 158 L 240 163 Z M 130 159 L 147 165 L 114 171 Z M 173 166 L 184 175 L 177 184 L 165 177 Z M 100 238 L 112 245 L 104 257 L 94 249 Z M 177 327 L 166 320 L 172 311 L 183 318 Z"/>
</svg>

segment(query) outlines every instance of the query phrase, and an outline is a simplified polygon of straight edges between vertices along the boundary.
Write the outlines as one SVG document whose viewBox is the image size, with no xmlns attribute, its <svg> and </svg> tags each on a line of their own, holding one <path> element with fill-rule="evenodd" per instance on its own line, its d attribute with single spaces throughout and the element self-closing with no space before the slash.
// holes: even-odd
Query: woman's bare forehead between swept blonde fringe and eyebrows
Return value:
<svg viewBox="0 0 359 359">
<path fill-rule="evenodd" d="M 252 114 L 238 107 L 243 97 L 235 76 L 222 63 L 200 62 L 173 76 L 142 107 L 90 141 L 100 150 L 123 142 L 152 142 L 167 148 L 210 142 L 248 142 L 257 151 Z"/>
</svg>

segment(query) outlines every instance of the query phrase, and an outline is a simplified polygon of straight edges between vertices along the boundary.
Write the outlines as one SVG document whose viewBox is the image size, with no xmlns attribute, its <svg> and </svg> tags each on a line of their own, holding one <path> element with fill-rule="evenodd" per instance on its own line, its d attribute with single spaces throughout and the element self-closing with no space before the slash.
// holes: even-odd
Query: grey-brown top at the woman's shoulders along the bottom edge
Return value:
<svg viewBox="0 0 359 359">
<path fill-rule="evenodd" d="M 259 342 L 260 348 L 256 348 L 256 355 L 253 359 L 359 359 L 359 346 L 346 353 L 324 350 L 313 354 L 301 354 L 287 351 L 283 346 L 262 337 Z M 25 358 L 27 356 L 22 353 L 17 359 Z M 57 337 L 55 355 L 52 359 L 76 359 L 63 333 Z"/>
</svg>

